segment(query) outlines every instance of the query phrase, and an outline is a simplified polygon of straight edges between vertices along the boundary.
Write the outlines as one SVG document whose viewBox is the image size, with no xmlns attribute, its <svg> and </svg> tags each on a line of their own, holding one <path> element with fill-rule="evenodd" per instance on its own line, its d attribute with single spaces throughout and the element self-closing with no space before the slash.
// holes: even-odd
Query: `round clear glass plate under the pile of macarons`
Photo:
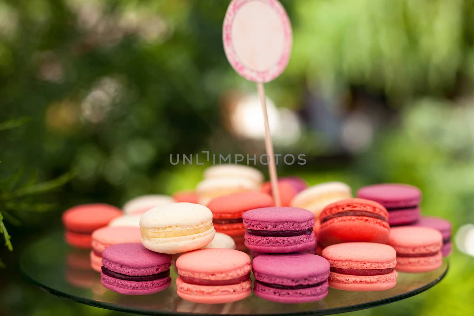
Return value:
<svg viewBox="0 0 474 316">
<path fill-rule="evenodd" d="M 398 273 L 393 289 L 379 292 L 348 292 L 329 289 L 328 296 L 306 304 L 279 304 L 247 298 L 228 304 L 206 305 L 183 300 L 176 295 L 171 269 L 171 286 L 162 292 L 145 296 L 127 296 L 112 292 L 100 284 L 100 274 L 91 270 L 89 251 L 64 243 L 63 233 L 55 232 L 30 244 L 20 256 L 21 271 L 29 280 L 57 296 L 83 304 L 143 315 L 328 315 L 392 303 L 417 295 L 437 284 L 447 273 L 448 262 L 426 273 Z M 252 276 L 253 278 L 253 276 Z"/>
</svg>

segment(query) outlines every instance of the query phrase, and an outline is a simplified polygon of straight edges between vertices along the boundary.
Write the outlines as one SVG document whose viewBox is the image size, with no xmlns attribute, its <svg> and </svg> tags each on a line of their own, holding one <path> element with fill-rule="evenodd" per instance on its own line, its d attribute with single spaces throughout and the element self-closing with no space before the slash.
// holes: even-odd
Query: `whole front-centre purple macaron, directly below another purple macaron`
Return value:
<svg viewBox="0 0 474 316">
<path fill-rule="evenodd" d="M 329 262 L 315 254 L 262 254 L 252 271 L 255 295 L 272 302 L 309 303 L 328 294 Z"/>
</svg>

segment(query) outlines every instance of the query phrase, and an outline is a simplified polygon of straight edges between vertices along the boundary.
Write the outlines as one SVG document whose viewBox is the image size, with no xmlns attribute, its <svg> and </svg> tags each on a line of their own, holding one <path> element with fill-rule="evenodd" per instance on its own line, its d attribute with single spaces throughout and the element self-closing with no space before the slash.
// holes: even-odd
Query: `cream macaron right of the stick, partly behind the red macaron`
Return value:
<svg viewBox="0 0 474 316">
<path fill-rule="evenodd" d="M 343 182 L 325 182 L 313 185 L 299 192 L 290 202 L 291 207 L 305 208 L 319 217 L 326 205 L 341 199 L 352 198 L 351 188 Z"/>
</svg>

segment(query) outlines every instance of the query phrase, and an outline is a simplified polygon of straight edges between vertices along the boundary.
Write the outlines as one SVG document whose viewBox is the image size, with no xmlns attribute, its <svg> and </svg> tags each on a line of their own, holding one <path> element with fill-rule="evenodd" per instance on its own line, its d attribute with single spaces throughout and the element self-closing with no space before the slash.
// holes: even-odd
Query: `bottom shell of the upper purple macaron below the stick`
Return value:
<svg viewBox="0 0 474 316">
<path fill-rule="evenodd" d="M 315 244 L 314 232 L 291 237 L 264 237 L 245 233 L 247 248 L 261 253 L 293 253 L 315 247 Z"/>
</svg>

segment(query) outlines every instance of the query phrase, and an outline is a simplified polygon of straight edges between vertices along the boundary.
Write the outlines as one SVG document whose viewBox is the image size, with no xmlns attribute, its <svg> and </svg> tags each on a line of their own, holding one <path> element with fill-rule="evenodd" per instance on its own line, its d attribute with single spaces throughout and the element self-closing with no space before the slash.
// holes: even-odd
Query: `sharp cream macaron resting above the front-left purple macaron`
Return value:
<svg viewBox="0 0 474 316">
<path fill-rule="evenodd" d="M 216 230 L 212 212 L 195 203 L 152 208 L 140 219 L 142 244 L 157 253 L 184 253 L 209 244 Z"/>
</svg>

